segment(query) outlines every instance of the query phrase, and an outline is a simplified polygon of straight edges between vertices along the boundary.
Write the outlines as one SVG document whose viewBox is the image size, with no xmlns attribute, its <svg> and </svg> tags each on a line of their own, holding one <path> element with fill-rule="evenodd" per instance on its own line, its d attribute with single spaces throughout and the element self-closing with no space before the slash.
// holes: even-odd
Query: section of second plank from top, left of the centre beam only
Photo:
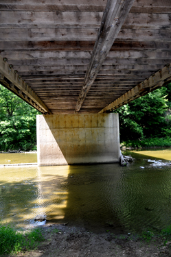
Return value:
<svg viewBox="0 0 171 257">
<path fill-rule="evenodd" d="M 87 19 L 89 17 L 89 19 Z M 167 19 L 167 18 L 166 18 Z M 99 28 L 102 12 L 21 12 L 3 11 L 0 16 L 1 28 Z"/>
</svg>

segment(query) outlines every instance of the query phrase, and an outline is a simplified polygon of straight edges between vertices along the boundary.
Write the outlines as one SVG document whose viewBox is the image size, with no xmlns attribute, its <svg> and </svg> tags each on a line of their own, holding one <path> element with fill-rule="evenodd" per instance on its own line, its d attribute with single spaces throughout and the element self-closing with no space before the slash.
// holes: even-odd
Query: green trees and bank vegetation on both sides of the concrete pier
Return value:
<svg viewBox="0 0 171 257">
<path fill-rule="evenodd" d="M 118 108 L 125 147 L 171 147 L 171 84 Z M 37 110 L 0 85 L 0 151 L 36 150 Z"/>
</svg>

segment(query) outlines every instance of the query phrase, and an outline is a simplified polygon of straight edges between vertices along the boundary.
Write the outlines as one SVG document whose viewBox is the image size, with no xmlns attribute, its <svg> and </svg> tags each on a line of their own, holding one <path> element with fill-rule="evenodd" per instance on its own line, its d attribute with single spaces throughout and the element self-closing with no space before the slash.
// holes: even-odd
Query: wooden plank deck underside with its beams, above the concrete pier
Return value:
<svg viewBox="0 0 171 257">
<path fill-rule="evenodd" d="M 42 113 L 108 112 L 171 81 L 171 1 L 0 0 L 0 51 Z"/>
</svg>

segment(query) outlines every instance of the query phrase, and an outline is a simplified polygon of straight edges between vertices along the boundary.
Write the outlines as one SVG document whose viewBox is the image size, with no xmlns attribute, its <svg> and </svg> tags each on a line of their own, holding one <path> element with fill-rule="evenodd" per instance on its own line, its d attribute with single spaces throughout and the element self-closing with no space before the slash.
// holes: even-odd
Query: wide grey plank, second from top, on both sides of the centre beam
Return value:
<svg viewBox="0 0 171 257">
<path fill-rule="evenodd" d="M 89 19 L 87 19 L 89 17 Z M 4 11 L 0 16 L 3 29 L 99 28 L 102 12 L 17 12 Z M 159 22 L 160 21 L 160 22 Z M 78 23 L 79 22 L 79 23 Z M 170 26 L 170 14 L 129 13 L 123 29 L 162 29 Z"/>
</svg>

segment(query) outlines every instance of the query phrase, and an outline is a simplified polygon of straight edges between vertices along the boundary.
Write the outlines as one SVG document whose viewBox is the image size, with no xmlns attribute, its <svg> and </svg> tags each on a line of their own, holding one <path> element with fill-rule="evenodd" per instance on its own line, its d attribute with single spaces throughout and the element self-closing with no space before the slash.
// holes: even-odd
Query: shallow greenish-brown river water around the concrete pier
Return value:
<svg viewBox="0 0 171 257">
<path fill-rule="evenodd" d="M 91 231 L 141 232 L 171 224 L 171 149 L 129 151 L 127 167 L 95 164 L 59 167 L 0 167 L 0 220 L 16 227 L 47 222 Z M 36 162 L 36 154 L 0 154 L 0 164 Z M 141 169 L 140 167 L 144 167 Z"/>
</svg>

